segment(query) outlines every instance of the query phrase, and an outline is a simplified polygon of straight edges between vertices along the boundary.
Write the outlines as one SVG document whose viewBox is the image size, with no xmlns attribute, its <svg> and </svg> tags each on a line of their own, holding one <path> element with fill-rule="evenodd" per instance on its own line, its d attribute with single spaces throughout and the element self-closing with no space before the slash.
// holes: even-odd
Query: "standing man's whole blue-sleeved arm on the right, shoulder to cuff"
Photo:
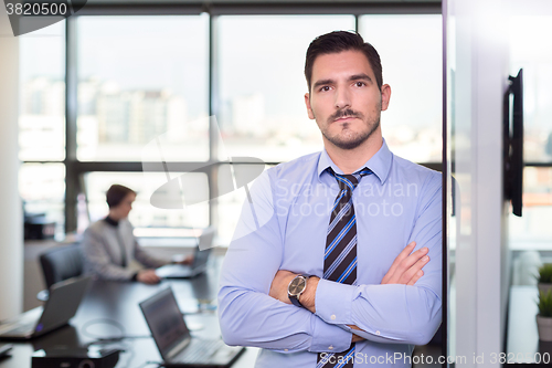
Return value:
<svg viewBox="0 0 552 368">
<path fill-rule="evenodd" d="M 427 344 L 442 319 L 440 188 L 428 191 L 410 241 L 427 246 L 429 262 L 414 286 L 401 284 L 343 285 L 320 280 L 316 315 L 365 339 L 379 343 Z"/>
</svg>

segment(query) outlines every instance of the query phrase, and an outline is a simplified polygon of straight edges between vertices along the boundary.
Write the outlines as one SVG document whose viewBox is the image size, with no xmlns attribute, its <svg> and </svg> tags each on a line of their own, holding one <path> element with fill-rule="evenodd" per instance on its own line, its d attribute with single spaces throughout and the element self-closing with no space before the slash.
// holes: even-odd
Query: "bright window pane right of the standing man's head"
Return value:
<svg viewBox="0 0 552 368">
<path fill-rule="evenodd" d="M 363 15 L 360 33 L 379 52 L 391 86 L 382 133 L 394 154 L 416 162 L 442 157 L 440 15 Z"/>
</svg>

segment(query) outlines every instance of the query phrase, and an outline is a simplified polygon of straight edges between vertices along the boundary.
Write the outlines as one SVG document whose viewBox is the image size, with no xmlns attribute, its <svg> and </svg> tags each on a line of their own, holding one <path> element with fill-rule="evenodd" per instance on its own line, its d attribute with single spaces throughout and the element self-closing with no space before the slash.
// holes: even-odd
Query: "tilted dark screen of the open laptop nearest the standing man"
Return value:
<svg viewBox="0 0 552 368">
<path fill-rule="evenodd" d="M 140 307 L 163 357 L 174 346 L 190 338 L 190 332 L 170 287 L 140 303 Z"/>
</svg>

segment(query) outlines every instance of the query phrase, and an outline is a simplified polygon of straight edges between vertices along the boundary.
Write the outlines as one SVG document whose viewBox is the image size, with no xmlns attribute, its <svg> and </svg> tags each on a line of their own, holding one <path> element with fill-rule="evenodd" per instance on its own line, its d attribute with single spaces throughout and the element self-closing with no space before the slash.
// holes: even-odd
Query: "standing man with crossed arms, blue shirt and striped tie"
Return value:
<svg viewBox="0 0 552 368">
<path fill-rule="evenodd" d="M 410 367 L 440 324 L 440 174 L 389 150 L 391 87 L 358 33 L 315 39 L 305 76 L 323 150 L 253 186 L 221 275 L 223 339 L 261 347 L 256 367 Z"/>
</svg>

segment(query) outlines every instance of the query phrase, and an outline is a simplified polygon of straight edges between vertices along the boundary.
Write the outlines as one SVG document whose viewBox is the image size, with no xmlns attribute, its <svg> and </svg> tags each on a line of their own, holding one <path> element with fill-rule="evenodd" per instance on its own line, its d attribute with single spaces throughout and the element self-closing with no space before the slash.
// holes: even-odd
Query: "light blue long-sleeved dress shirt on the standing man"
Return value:
<svg viewBox="0 0 552 368">
<path fill-rule="evenodd" d="M 330 211 L 339 191 L 326 150 L 266 170 L 251 188 L 226 253 L 219 318 L 229 345 L 263 348 L 256 367 L 317 366 L 317 353 L 347 350 L 355 325 L 354 367 L 410 367 L 414 345 L 440 324 L 442 176 L 394 156 L 383 141 L 359 168 L 353 191 L 358 285 L 320 280 L 316 314 L 268 296 L 278 270 L 322 277 Z M 414 286 L 380 285 L 412 241 L 429 249 Z"/>
</svg>

